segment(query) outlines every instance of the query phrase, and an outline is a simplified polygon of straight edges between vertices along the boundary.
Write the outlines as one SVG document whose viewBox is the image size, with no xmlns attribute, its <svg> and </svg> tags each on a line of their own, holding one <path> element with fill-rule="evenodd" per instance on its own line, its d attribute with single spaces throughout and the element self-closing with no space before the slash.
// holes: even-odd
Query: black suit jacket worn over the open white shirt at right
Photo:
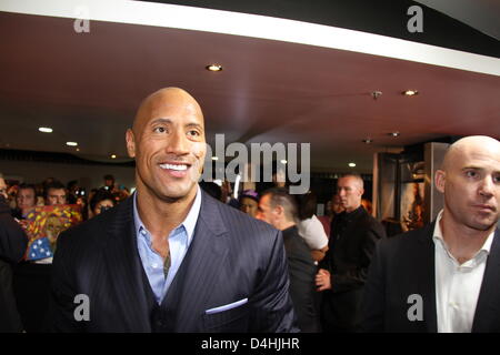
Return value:
<svg viewBox="0 0 500 355">
<path fill-rule="evenodd" d="M 364 332 L 438 331 L 436 308 L 434 223 L 377 246 L 363 297 Z M 496 231 L 476 308 L 472 332 L 500 332 L 500 232 Z M 408 297 L 422 297 L 423 320 L 410 321 Z"/>
</svg>

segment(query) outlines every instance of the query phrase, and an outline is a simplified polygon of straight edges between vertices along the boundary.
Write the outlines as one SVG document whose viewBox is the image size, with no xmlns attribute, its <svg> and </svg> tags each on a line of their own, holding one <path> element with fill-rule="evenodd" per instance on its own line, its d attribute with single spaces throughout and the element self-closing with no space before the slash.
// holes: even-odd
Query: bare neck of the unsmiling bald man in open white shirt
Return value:
<svg viewBox="0 0 500 355">
<path fill-rule="evenodd" d="M 446 210 L 443 211 L 439 225 L 451 255 L 460 264 L 474 257 L 496 227 L 496 224 L 493 224 L 487 231 L 471 229 L 462 223 L 457 223 Z"/>
</svg>

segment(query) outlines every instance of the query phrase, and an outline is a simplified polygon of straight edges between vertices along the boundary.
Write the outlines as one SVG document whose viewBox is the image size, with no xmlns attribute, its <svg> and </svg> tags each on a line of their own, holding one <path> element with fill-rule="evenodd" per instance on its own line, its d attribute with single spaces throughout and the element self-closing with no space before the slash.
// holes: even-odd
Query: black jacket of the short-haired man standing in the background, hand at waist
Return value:
<svg viewBox="0 0 500 355">
<path fill-rule="evenodd" d="M 332 288 L 324 291 L 321 317 L 324 331 L 353 332 L 361 321 L 362 288 L 376 243 L 386 237 L 382 224 L 363 206 L 340 213 L 331 225 L 329 250 L 320 263 L 331 274 Z"/>
</svg>

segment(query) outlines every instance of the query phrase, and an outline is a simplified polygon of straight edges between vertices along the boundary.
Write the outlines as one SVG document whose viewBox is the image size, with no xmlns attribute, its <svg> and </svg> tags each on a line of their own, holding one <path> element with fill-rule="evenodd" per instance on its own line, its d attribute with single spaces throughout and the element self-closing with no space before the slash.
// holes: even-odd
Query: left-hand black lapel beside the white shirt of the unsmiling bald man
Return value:
<svg viewBox="0 0 500 355">
<path fill-rule="evenodd" d="M 427 225 L 420 234 L 421 258 L 416 265 L 418 272 L 419 290 L 422 290 L 423 322 L 429 333 L 438 332 L 437 307 L 436 307 L 436 257 L 432 234 L 434 224 Z"/>
</svg>

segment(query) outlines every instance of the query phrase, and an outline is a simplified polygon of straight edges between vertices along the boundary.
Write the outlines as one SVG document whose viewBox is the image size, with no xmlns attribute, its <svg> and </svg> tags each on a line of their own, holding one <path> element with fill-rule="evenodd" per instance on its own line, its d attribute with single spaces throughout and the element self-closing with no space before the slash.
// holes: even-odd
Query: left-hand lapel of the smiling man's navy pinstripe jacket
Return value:
<svg viewBox="0 0 500 355">
<path fill-rule="evenodd" d="M 137 250 L 133 224 L 133 197 L 118 206 L 116 219 L 108 230 L 106 263 L 109 271 L 113 301 L 126 320 L 127 332 L 150 332 L 146 294 L 143 292 L 142 265 Z"/>
</svg>

